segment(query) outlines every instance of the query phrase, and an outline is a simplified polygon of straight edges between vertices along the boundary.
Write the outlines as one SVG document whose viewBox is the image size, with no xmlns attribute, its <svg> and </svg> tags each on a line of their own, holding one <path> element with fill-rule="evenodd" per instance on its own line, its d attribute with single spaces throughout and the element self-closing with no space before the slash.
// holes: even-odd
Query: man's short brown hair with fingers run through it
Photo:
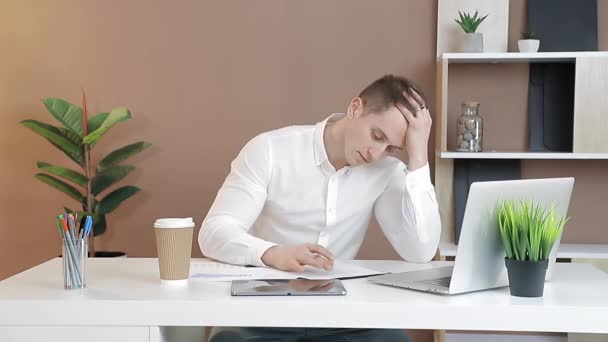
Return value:
<svg viewBox="0 0 608 342">
<path fill-rule="evenodd" d="M 363 100 L 364 113 L 381 113 L 395 104 L 401 103 L 416 115 L 416 110 L 403 96 L 403 92 L 410 96 L 414 92 L 417 93 L 426 104 L 424 94 L 411 80 L 395 75 L 385 75 L 375 80 L 359 94 Z"/>
</svg>

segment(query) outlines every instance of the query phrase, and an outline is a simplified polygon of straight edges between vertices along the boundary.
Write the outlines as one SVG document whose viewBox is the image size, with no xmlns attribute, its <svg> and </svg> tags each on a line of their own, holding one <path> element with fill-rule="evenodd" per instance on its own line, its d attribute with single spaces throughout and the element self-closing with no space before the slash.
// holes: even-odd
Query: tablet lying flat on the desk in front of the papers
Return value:
<svg viewBox="0 0 608 342">
<path fill-rule="evenodd" d="M 343 296 L 346 289 L 339 279 L 233 280 L 233 296 Z"/>
</svg>

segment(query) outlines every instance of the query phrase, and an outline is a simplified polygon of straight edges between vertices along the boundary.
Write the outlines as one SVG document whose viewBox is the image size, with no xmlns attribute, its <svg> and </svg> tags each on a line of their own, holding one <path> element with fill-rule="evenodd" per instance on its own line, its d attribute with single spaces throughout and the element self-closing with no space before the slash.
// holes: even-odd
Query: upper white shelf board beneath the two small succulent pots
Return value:
<svg viewBox="0 0 608 342">
<path fill-rule="evenodd" d="M 606 51 L 444 53 L 448 63 L 574 62 L 577 57 L 608 57 Z"/>
</svg>

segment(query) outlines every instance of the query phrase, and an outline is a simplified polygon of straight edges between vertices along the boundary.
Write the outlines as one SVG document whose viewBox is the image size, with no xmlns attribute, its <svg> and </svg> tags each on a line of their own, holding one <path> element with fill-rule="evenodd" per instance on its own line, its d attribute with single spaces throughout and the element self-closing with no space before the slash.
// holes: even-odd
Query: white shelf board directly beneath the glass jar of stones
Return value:
<svg viewBox="0 0 608 342">
<path fill-rule="evenodd" d="M 442 159 L 608 159 L 608 153 L 441 152 Z"/>
</svg>

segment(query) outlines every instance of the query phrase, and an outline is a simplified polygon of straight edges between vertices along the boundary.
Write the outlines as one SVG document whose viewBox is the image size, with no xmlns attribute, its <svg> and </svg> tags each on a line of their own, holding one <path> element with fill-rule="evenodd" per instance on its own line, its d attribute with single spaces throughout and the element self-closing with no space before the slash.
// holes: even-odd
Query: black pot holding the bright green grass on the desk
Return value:
<svg viewBox="0 0 608 342">
<path fill-rule="evenodd" d="M 528 261 L 505 258 L 511 296 L 542 297 L 549 260 Z"/>
</svg>

